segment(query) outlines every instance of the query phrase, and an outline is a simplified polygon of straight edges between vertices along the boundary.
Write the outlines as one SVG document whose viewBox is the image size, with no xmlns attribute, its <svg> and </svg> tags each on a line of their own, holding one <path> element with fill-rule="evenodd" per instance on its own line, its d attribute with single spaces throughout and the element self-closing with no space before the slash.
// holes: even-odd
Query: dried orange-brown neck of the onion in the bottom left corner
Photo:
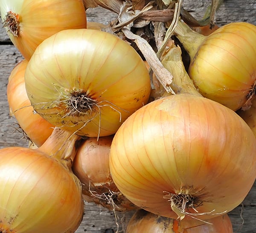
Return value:
<svg viewBox="0 0 256 233">
<path fill-rule="evenodd" d="M 80 136 L 74 133 L 54 128 L 51 136 L 37 150 L 55 158 L 70 170 L 76 156 L 79 139 Z"/>
</svg>

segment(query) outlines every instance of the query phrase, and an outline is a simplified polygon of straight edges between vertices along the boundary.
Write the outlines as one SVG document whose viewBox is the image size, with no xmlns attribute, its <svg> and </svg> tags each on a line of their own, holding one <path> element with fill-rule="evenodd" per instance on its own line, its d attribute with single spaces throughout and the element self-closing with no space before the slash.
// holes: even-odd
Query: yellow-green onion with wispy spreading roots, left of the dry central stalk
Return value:
<svg viewBox="0 0 256 233">
<path fill-rule="evenodd" d="M 47 38 L 25 72 L 28 97 L 48 122 L 81 136 L 114 134 L 148 102 L 143 60 L 119 37 L 69 29 Z"/>
</svg>

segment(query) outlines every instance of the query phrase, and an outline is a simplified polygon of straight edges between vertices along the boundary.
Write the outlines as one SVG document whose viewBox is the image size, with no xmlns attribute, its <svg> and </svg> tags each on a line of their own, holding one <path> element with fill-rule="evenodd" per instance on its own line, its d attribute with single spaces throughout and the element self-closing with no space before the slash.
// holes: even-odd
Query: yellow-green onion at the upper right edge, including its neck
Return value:
<svg viewBox="0 0 256 233">
<path fill-rule="evenodd" d="M 250 108 L 256 84 L 256 26 L 229 23 L 206 37 L 179 22 L 175 31 L 191 57 L 189 76 L 200 93 L 234 111 Z"/>
</svg>

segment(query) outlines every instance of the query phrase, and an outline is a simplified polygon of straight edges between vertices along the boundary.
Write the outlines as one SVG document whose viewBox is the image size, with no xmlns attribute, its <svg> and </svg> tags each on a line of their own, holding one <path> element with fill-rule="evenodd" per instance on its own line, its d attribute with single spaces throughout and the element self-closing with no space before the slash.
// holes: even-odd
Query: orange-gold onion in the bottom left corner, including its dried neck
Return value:
<svg viewBox="0 0 256 233">
<path fill-rule="evenodd" d="M 83 217 L 71 172 L 78 136 L 56 129 L 38 149 L 0 150 L 0 232 L 75 232 Z"/>
</svg>

